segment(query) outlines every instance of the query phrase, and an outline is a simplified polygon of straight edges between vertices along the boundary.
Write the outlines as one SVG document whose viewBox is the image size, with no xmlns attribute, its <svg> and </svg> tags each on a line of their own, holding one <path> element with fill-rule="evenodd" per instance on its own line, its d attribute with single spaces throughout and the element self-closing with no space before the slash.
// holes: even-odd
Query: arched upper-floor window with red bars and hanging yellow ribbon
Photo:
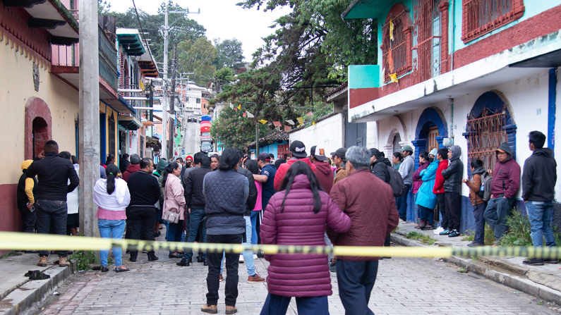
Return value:
<svg viewBox="0 0 561 315">
<path fill-rule="evenodd" d="M 390 75 L 411 71 L 411 28 L 409 9 L 402 4 L 392 6 L 382 26 L 384 82 L 390 82 Z"/>
</svg>

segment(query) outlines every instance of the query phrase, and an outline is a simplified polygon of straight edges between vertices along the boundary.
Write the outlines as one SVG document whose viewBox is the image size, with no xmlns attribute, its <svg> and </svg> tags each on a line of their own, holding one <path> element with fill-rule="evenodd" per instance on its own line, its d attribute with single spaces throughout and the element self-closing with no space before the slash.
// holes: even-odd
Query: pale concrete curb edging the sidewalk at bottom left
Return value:
<svg viewBox="0 0 561 315">
<path fill-rule="evenodd" d="M 45 280 L 25 280 L 22 285 L 13 288 L 1 300 L 0 315 L 23 314 L 30 309 L 33 304 L 42 302 L 47 296 L 51 295 L 56 288 L 68 277 L 78 270 L 76 261 L 71 261 L 71 266 L 60 268 L 54 265 L 44 271 L 51 276 Z"/>
</svg>

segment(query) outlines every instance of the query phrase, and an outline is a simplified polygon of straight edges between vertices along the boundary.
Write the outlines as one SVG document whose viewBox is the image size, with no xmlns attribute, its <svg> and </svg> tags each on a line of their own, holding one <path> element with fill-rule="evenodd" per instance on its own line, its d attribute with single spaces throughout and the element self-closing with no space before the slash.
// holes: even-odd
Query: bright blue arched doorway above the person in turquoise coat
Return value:
<svg viewBox="0 0 561 315">
<path fill-rule="evenodd" d="M 425 109 L 417 122 L 415 140 L 411 141 L 415 146 L 415 163 L 418 164 L 418 155 L 421 152 L 442 147 L 445 137 L 448 137 L 448 128 L 440 109 Z"/>
</svg>

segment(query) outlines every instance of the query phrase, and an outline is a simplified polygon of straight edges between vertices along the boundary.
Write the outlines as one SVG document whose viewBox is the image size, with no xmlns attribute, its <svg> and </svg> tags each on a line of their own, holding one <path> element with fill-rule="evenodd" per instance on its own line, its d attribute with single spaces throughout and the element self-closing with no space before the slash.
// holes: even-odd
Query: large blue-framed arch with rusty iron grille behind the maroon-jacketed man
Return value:
<svg viewBox="0 0 561 315">
<path fill-rule="evenodd" d="M 473 159 L 481 159 L 485 168 L 493 169 L 497 162 L 495 150 L 502 142 L 508 142 L 516 159 L 516 130 L 507 99 L 495 91 L 481 94 L 467 116 L 467 165 Z"/>
</svg>

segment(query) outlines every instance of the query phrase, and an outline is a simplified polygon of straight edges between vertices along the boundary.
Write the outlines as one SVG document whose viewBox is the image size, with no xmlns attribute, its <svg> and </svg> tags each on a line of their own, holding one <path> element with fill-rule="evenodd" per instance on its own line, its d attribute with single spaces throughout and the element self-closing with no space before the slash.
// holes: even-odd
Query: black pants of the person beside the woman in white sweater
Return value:
<svg viewBox="0 0 561 315">
<path fill-rule="evenodd" d="M 126 209 L 126 217 L 130 222 L 131 240 L 154 240 L 154 226 L 156 225 L 155 206 L 131 206 Z M 131 258 L 138 256 L 138 250 L 131 250 Z M 153 257 L 154 251 L 148 252 Z"/>
</svg>

